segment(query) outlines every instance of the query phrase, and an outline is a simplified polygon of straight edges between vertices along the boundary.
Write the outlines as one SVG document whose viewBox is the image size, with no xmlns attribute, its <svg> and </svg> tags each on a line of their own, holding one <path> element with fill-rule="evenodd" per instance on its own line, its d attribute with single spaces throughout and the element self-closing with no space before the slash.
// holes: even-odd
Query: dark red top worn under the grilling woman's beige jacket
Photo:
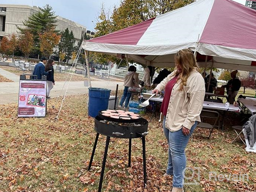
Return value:
<svg viewBox="0 0 256 192">
<path fill-rule="evenodd" d="M 177 77 L 178 76 L 175 76 L 165 86 L 165 89 L 164 89 L 164 99 L 163 99 L 163 103 L 162 103 L 161 109 L 160 109 L 160 112 L 163 113 L 164 116 L 166 116 L 166 114 L 167 114 L 167 109 L 168 109 L 168 105 L 169 105 L 169 102 L 170 102 L 170 97 L 171 97 L 171 94 L 172 94 L 172 89 L 173 89 L 173 86 L 176 83 Z"/>
</svg>

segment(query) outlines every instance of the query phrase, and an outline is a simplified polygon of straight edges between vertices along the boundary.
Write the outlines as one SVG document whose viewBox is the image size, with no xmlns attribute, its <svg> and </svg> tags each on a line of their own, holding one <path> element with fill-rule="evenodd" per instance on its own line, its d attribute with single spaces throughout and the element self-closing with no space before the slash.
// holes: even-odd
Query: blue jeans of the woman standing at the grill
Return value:
<svg viewBox="0 0 256 192">
<path fill-rule="evenodd" d="M 182 132 L 182 128 L 178 131 L 169 131 L 165 126 L 165 116 L 163 121 L 164 135 L 168 141 L 168 164 L 166 173 L 173 175 L 173 187 L 183 188 L 184 176 L 183 170 L 186 168 L 186 155 L 185 148 L 188 145 L 189 138 L 191 137 L 198 122 L 191 127 L 190 133 L 186 136 Z"/>
</svg>

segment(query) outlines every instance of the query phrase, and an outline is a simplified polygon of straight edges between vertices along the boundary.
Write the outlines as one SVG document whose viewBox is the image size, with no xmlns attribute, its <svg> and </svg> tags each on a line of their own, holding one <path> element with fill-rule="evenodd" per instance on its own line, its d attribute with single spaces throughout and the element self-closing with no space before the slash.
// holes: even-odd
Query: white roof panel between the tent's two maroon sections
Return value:
<svg viewBox="0 0 256 192">
<path fill-rule="evenodd" d="M 195 43 L 198 42 L 202 35 L 213 3 L 214 0 L 197 1 L 188 6 L 157 16 L 140 38 L 137 45 L 168 44 L 169 48 L 171 48 L 172 45 L 192 42 L 193 46 L 195 46 Z"/>
</svg>

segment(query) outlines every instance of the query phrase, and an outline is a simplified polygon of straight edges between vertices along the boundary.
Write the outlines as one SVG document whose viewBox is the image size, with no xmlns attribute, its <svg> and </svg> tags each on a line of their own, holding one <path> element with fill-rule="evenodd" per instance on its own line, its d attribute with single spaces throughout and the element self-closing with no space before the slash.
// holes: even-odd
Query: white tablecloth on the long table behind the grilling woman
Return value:
<svg viewBox="0 0 256 192">
<path fill-rule="evenodd" d="M 163 102 L 163 97 L 161 97 L 161 98 L 151 98 L 150 100 L 157 101 L 157 102 Z M 215 103 L 215 102 L 208 102 L 208 101 L 204 101 L 203 108 L 205 108 L 205 109 L 217 109 L 217 110 L 222 110 L 222 111 L 232 111 L 232 112 L 237 112 L 237 113 L 240 112 L 240 108 L 235 107 L 234 105 L 230 105 L 229 107 L 226 107 L 225 103 Z"/>
</svg>

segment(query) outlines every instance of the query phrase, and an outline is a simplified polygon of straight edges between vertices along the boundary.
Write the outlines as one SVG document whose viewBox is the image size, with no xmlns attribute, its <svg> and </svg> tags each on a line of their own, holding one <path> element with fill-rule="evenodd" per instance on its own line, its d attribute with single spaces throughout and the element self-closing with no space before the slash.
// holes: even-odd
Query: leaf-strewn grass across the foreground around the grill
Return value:
<svg viewBox="0 0 256 192">
<path fill-rule="evenodd" d="M 59 100 L 60 102 L 60 100 Z M 87 95 L 68 96 L 59 120 L 55 99 L 47 103 L 46 118 L 17 118 L 17 104 L 0 105 L 0 191 L 1 192 L 96 192 L 105 147 L 99 137 L 93 166 L 87 171 L 96 132 L 87 116 Z M 150 113 L 144 116 L 149 119 Z M 215 129 L 212 143 L 196 135 L 186 149 L 188 166 L 200 167 L 200 185 L 186 185 L 186 192 L 255 192 L 256 154 L 246 153 L 231 124 L 240 116 L 229 114 L 225 131 Z M 234 120 L 235 119 L 235 120 Z M 162 124 L 153 119 L 146 136 L 147 188 L 143 188 L 141 140 L 132 140 L 132 166 L 128 164 L 128 140 L 111 138 L 102 191 L 168 192 L 172 178 L 164 178 L 167 143 Z M 209 172 L 248 174 L 249 181 L 209 181 Z M 189 176 L 189 172 L 187 173 Z M 196 175 L 196 174 L 195 174 Z M 196 175 L 197 176 L 197 175 Z M 197 177 L 196 177 L 197 178 Z"/>
</svg>

